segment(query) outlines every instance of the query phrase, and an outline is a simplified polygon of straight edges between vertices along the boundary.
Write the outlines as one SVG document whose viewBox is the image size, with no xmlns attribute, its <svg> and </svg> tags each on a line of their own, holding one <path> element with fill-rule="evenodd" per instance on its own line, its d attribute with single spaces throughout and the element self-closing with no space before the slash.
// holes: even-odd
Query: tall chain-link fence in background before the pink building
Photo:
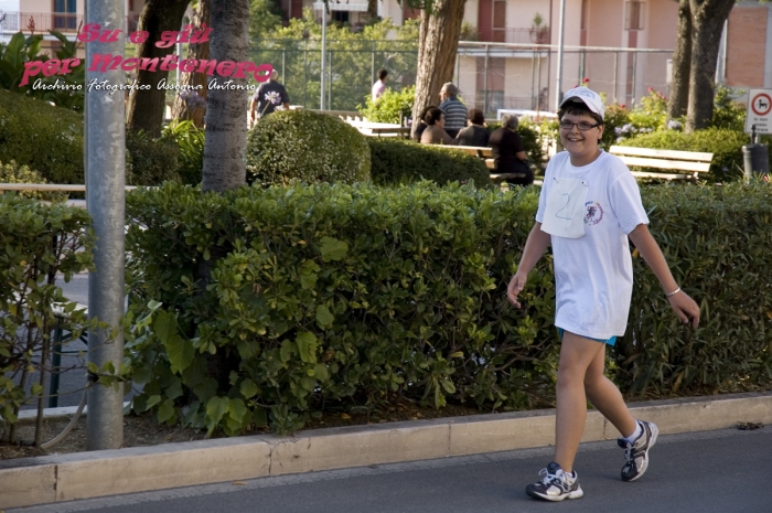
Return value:
<svg viewBox="0 0 772 513">
<path fill-rule="evenodd" d="M 400 88 L 416 78 L 416 41 L 326 42 L 326 108 L 356 110 L 364 105 L 378 70 L 389 71 L 388 86 Z M 671 50 L 567 47 L 562 92 L 586 83 L 608 103 L 634 105 L 650 88 L 667 93 Z M 251 58 L 270 63 L 281 74 L 293 105 L 319 108 L 321 41 L 260 40 Z M 461 42 L 454 82 L 464 103 L 495 117 L 498 109 L 554 110 L 557 47 Z"/>
</svg>

